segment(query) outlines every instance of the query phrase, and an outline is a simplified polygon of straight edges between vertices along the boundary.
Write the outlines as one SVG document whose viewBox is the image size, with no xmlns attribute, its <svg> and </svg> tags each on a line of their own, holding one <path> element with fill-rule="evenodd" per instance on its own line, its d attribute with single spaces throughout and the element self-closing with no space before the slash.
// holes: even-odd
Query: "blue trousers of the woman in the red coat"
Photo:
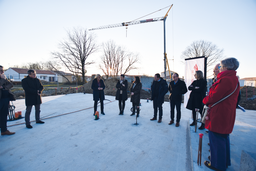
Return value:
<svg viewBox="0 0 256 171">
<path fill-rule="evenodd" d="M 209 130 L 211 166 L 225 171 L 231 166 L 230 142 L 228 134 L 220 134 Z"/>
</svg>

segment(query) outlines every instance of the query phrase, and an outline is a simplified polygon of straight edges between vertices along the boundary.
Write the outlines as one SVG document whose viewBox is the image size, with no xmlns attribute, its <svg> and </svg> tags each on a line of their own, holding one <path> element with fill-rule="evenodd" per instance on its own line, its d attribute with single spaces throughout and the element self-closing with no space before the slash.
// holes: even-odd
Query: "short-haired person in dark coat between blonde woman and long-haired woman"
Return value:
<svg viewBox="0 0 256 171">
<path fill-rule="evenodd" d="M 117 81 L 116 83 L 116 100 L 119 101 L 119 115 L 124 115 L 124 110 L 125 110 L 125 101 L 128 99 L 127 96 L 127 87 L 128 87 L 128 81 L 125 80 L 125 75 L 121 74 L 120 75 L 120 80 Z M 123 102 L 123 106 L 122 106 Z"/>
</svg>

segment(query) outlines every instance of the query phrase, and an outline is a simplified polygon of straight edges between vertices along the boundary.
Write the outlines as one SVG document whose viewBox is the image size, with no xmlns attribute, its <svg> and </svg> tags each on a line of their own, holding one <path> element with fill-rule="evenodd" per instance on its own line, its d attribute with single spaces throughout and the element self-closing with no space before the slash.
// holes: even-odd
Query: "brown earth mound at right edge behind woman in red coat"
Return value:
<svg viewBox="0 0 256 171">
<path fill-rule="evenodd" d="M 243 86 L 240 87 L 241 90 L 241 100 L 239 102 L 239 105 L 242 106 L 244 109 L 247 110 L 256 110 L 256 99 L 246 101 L 246 88 L 247 88 L 247 98 L 253 97 L 253 90 L 254 95 L 256 95 L 256 88 L 252 86 Z"/>
</svg>

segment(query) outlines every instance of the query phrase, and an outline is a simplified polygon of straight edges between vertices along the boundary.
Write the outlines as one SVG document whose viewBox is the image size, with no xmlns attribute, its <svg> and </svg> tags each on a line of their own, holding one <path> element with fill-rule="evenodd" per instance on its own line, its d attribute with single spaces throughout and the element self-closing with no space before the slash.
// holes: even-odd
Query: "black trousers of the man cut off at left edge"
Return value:
<svg viewBox="0 0 256 171">
<path fill-rule="evenodd" d="M 10 106 L 9 103 L 10 103 L 10 98 L 0 99 L 0 129 L 1 129 L 1 132 L 7 131 L 7 116 L 9 113 L 9 106 Z"/>
</svg>

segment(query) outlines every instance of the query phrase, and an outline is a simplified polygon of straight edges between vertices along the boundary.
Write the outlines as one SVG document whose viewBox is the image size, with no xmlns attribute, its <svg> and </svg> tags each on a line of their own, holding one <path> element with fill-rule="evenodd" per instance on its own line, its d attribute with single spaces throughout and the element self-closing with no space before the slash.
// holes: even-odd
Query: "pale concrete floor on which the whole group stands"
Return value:
<svg viewBox="0 0 256 171">
<path fill-rule="evenodd" d="M 146 100 L 141 100 L 139 125 L 133 125 L 136 115 L 130 116 L 129 99 L 124 115 L 118 115 L 118 101 L 113 96 L 105 97 L 112 102 L 104 101 L 105 115 L 100 115 L 99 120 L 94 120 L 92 94 L 42 97 L 40 116 L 50 115 L 43 119 L 45 124 L 31 122 L 33 128 L 27 129 L 22 124 L 24 118 L 8 122 L 8 129 L 16 133 L 0 137 L 0 158 L 4 159 L 0 160 L 0 170 L 196 170 L 197 158 L 193 156 L 197 151 L 193 150 L 198 149 L 199 136 L 198 132 L 191 133 L 188 121 L 191 111 L 183 104 L 180 127 L 168 125 L 169 102 L 163 103 L 162 122 L 151 121 L 153 102 Z M 25 99 L 14 101 L 14 105 L 24 116 Z M 66 113 L 70 114 L 57 116 Z M 30 120 L 34 120 L 34 107 Z M 231 150 L 232 166 L 228 170 L 239 170 L 241 150 L 247 150 L 248 145 L 255 146 L 255 134 L 251 134 L 255 121 L 255 111 L 242 113 L 237 109 L 234 129 L 240 133 L 236 130 L 230 136 L 230 141 L 233 138 L 237 141 L 230 142 L 234 150 Z M 206 137 L 203 143 L 207 144 Z M 208 152 L 208 149 L 203 147 L 202 151 Z M 255 153 L 255 148 L 250 149 Z M 203 160 L 208 153 L 202 156 Z M 203 165 L 200 168 L 207 170 Z"/>
</svg>

